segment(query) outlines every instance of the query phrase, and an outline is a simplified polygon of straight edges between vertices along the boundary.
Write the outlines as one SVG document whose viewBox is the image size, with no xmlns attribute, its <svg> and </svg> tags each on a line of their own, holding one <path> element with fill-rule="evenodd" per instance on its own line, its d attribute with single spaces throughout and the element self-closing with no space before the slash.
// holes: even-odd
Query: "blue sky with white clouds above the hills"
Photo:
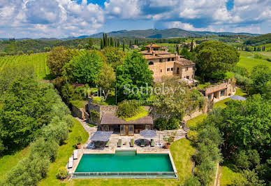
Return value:
<svg viewBox="0 0 271 186">
<path fill-rule="evenodd" d="M 270 0 L 0 0 L 0 38 L 121 29 L 271 32 Z"/>
</svg>

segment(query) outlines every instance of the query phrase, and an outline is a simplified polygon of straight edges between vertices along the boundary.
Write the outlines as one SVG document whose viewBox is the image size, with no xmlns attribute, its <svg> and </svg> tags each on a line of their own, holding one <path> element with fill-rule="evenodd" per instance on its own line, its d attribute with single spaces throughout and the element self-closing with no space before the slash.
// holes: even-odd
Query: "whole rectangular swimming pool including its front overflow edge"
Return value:
<svg viewBox="0 0 271 186">
<path fill-rule="evenodd" d="M 73 178 L 177 178 L 168 154 L 84 154 Z"/>
</svg>

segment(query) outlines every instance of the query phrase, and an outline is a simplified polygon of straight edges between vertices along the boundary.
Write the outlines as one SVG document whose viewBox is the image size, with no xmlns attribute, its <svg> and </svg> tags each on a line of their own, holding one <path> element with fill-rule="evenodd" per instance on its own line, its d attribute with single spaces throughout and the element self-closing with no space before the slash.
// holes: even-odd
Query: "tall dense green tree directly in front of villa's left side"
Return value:
<svg viewBox="0 0 271 186">
<path fill-rule="evenodd" d="M 147 90 L 152 86 L 152 71 L 142 54 L 133 51 L 124 59 L 121 66 L 117 66 L 117 99 L 147 99 Z M 148 87 L 147 87 L 147 86 Z M 142 87 L 142 93 L 139 91 Z"/>
</svg>

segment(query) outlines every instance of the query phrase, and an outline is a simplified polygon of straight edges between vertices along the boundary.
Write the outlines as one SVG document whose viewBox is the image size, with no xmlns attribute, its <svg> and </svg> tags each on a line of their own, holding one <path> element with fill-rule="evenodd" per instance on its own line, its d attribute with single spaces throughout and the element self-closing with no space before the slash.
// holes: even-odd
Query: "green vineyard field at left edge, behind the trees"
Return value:
<svg viewBox="0 0 271 186">
<path fill-rule="evenodd" d="M 31 64 L 34 66 L 38 79 L 48 79 L 50 70 L 46 65 L 47 53 L 39 53 L 34 55 L 14 55 L 0 57 L 0 71 L 6 64 Z"/>
</svg>

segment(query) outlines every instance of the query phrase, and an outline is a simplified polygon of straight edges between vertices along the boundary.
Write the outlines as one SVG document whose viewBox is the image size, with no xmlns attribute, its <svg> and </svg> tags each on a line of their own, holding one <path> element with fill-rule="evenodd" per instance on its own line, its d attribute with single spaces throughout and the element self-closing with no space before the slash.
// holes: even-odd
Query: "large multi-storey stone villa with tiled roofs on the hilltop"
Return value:
<svg viewBox="0 0 271 186">
<path fill-rule="evenodd" d="M 161 46 L 150 44 L 145 46 L 147 50 L 141 51 L 147 59 L 149 69 L 153 72 L 154 81 L 159 81 L 163 76 L 179 76 L 187 80 L 194 80 L 195 63 L 182 58 L 177 53 L 172 54 L 166 50 L 160 50 Z"/>
</svg>

